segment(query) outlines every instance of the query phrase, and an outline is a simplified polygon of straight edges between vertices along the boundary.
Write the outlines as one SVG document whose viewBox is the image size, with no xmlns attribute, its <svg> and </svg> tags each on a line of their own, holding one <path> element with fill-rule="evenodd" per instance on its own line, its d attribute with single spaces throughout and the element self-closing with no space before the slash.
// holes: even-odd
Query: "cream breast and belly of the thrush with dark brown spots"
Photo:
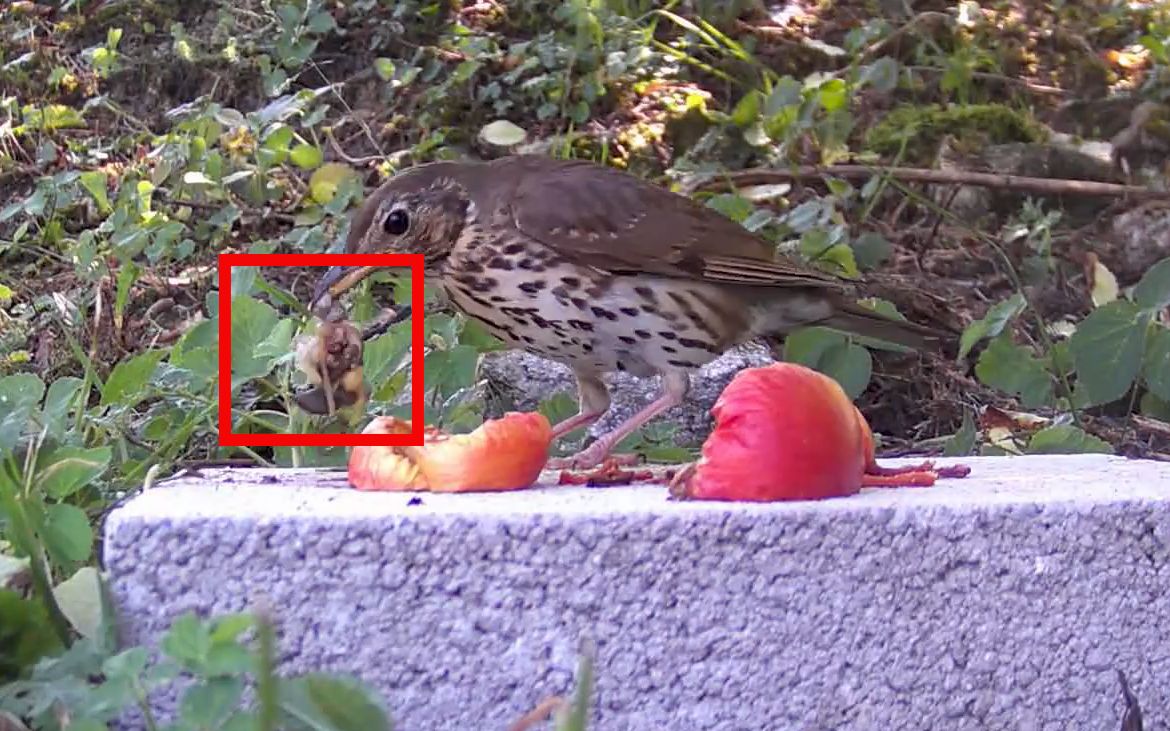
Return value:
<svg viewBox="0 0 1170 731">
<path fill-rule="evenodd" d="M 578 370 L 649 377 L 695 368 L 727 340 L 710 326 L 715 288 L 614 276 L 516 233 L 468 236 L 441 281 L 452 305 L 505 345 Z"/>
</svg>

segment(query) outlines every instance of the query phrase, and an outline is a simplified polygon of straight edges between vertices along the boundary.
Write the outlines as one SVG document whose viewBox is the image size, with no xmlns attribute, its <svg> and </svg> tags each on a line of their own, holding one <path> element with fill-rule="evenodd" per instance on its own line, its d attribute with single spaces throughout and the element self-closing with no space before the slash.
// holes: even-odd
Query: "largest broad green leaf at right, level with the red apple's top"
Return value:
<svg viewBox="0 0 1170 731">
<path fill-rule="evenodd" d="M 1115 299 L 1089 313 L 1068 340 L 1085 406 L 1120 399 L 1134 385 L 1145 349 L 1147 316 Z"/>
</svg>

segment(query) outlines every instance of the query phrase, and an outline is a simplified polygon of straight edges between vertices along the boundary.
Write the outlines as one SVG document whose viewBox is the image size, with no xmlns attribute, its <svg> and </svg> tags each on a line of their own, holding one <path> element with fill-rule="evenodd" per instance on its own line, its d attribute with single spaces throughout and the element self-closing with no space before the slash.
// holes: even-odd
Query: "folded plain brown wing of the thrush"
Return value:
<svg viewBox="0 0 1170 731">
<path fill-rule="evenodd" d="M 717 211 L 631 174 L 541 157 L 512 158 L 510 165 L 511 223 L 583 264 L 765 287 L 844 284 L 773 255 L 766 242 Z"/>
</svg>

